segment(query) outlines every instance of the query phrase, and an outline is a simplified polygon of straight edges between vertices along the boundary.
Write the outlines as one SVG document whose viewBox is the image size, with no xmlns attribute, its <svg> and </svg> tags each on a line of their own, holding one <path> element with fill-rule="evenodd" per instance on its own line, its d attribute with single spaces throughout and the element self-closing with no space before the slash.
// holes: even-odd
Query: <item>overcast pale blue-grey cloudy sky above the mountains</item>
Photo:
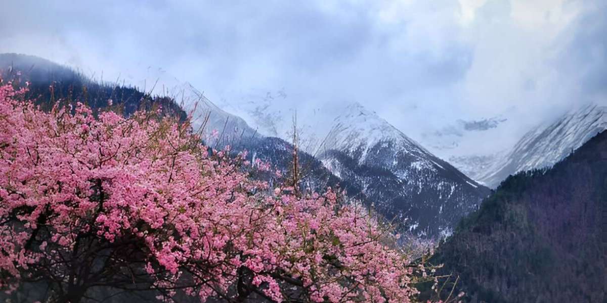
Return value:
<svg viewBox="0 0 607 303">
<path fill-rule="evenodd" d="M 497 117 L 455 138 L 484 153 L 607 103 L 603 0 L 49 2 L 3 1 L 0 52 L 132 82 L 160 68 L 251 124 L 270 104 L 322 133 L 359 102 L 433 149 L 458 120 Z"/>
</svg>

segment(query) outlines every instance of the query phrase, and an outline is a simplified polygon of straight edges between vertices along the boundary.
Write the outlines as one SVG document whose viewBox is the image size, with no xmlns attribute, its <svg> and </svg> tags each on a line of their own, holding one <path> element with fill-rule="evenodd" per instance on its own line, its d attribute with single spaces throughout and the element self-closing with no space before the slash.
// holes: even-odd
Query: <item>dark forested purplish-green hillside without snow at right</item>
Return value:
<svg viewBox="0 0 607 303">
<path fill-rule="evenodd" d="M 510 176 L 459 224 L 432 259 L 453 273 L 443 293 L 459 276 L 469 302 L 607 302 L 606 214 L 602 132 L 551 169 Z"/>
</svg>

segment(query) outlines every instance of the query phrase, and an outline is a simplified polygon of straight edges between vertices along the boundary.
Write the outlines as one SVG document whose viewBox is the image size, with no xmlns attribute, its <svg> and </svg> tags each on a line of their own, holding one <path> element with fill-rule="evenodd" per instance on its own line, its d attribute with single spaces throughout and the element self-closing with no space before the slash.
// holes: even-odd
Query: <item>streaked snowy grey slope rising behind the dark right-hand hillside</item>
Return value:
<svg viewBox="0 0 607 303">
<path fill-rule="evenodd" d="M 527 132 L 504 155 L 498 155 L 469 171 L 470 178 L 495 188 L 509 175 L 519 171 L 551 167 L 572 153 L 597 133 L 607 129 L 607 107 L 587 105 L 572 110 L 555 121 L 541 124 Z M 469 157 L 452 158 L 455 165 L 474 162 Z"/>
</svg>

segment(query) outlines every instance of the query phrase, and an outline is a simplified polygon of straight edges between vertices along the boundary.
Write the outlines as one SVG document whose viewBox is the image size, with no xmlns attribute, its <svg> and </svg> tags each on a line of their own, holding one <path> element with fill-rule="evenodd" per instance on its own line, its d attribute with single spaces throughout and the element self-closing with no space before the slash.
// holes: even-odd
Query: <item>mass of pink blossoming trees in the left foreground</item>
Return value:
<svg viewBox="0 0 607 303">
<path fill-rule="evenodd" d="M 228 302 L 409 302 L 406 256 L 336 193 L 247 177 L 188 123 L 151 112 L 42 112 L 0 87 L 0 287 L 93 288 Z"/>
</svg>

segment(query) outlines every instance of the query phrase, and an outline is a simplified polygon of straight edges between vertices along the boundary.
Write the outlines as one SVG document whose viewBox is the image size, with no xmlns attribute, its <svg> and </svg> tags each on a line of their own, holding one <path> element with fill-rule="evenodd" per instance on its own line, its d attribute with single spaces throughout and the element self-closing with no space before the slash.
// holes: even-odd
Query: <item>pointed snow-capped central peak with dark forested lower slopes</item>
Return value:
<svg viewBox="0 0 607 303">
<path fill-rule="evenodd" d="M 317 157 L 350 194 L 366 195 L 388 219 L 406 218 L 417 235 L 449 234 L 489 192 L 359 104 L 334 120 Z"/>
</svg>

